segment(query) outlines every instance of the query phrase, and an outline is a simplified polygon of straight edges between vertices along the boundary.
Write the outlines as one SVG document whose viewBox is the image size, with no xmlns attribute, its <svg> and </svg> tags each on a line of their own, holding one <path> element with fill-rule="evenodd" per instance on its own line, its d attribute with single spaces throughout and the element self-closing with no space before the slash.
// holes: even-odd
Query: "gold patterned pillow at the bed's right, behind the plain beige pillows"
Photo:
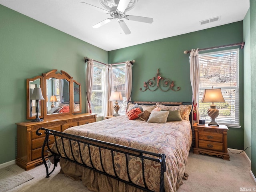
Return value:
<svg viewBox="0 0 256 192">
<path fill-rule="evenodd" d="M 181 118 L 186 121 L 189 121 L 190 111 L 192 110 L 192 105 L 166 106 L 166 105 L 156 103 L 156 107 L 160 107 L 161 109 L 168 110 L 168 111 L 178 110 L 180 112 Z"/>
</svg>

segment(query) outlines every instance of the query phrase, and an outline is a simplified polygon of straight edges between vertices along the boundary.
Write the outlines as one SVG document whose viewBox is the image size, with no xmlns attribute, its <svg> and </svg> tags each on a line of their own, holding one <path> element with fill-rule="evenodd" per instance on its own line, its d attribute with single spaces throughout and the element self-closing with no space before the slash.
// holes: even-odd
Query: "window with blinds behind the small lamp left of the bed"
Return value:
<svg viewBox="0 0 256 192">
<path fill-rule="evenodd" d="M 122 93 L 123 100 L 118 102 L 120 106 L 119 114 L 125 114 L 126 111 L 126 91 L 125 91 L 125 65 L 113 66 L 114 90 Z"/>
</svg>

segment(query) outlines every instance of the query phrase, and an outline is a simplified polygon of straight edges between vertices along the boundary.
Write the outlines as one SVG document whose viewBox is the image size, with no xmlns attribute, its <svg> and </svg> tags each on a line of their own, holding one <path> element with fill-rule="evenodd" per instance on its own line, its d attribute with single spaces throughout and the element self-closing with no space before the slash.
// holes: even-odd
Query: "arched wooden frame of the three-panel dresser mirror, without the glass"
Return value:
<svg viewBox="0 0 256 192">
<path fill-rule="evenodd" d="M 73 77 L 70 76 L 67 72 L 61 70 L 60 73 L 57 73 L 57 69 L 50 70 L 46 73 L 42 73 L 42 76 L 36 76 L 34 78 L 27 79 L 27 119 L 34 119 L 36 116 L 30 117 L 30 99 L 29 99 L 29 82 L 36 80 L 40 78 L 40 87 L 42 88 L 42 94 L 43 97 L 46 98 L 46 93 L 47 93 L 47 79 L 49 78 L 56 78 L 56 79 L 66 79 L 69 82 L 69 107 L 70 107 L 70 112 L 68 113 L 62 113 L 62 114 L 51 114 L 47 115 L 47 107 L 46 107 L 46 100 L 41 100 L 41 116 L 40 118 L 48 119 L 48 118 L 56 118 L 60 116 L 66 116 L 70 115 L 73 113 L 81 113 L 82 112 L 82 100 L 81 100 L 81 84 L 76 82 L 76 80 L 73 80 Z M 79 98 L 80 98 L 80 110 L 74 112 L 74 83 L 79 85 Z"/>
</svg>

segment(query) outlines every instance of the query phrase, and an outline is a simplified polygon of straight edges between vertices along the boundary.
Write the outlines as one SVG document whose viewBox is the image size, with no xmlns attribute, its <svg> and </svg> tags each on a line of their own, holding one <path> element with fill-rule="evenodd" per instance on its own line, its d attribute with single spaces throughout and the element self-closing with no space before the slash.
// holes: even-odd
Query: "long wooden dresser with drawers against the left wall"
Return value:
<svg viewBox="0 0 256 192">
<path fill-rule="evenodd" d="M 42 164 L 42 145 L 44 134 L 36 135 L 38 128 L 44 127 L 57 131 L 64 131 L 67 128 L 96 122 L 96 114 L 84 113 L 76 115 L 61 116 L 58 118 L 48 118 L 43 122 L 21 122 L 17 124 L 17 155 L 16 164 L 25 170 L 35 168 Z M 50 144 L 54 143 L 54 138 L 49 138 Z M 48 150 L 45 150 L 45 156 Z"/>
</svg>

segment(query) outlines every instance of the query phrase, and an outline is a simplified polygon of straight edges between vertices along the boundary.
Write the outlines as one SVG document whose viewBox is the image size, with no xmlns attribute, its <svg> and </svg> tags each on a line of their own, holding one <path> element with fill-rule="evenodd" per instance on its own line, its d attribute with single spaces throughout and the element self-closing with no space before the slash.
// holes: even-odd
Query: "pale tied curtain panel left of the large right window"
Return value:
<svg viewBox="0 0 256 192">
<path fill-rule="evenodd" d="M 199 94 L 199 80 L 200 80 L 200 64 L 198 49 L 192 49 L 189 56 L 190 62 L 190 82 L 192 86 L 192 99 L 193 99 L 193 111 L 196 112 L 196 119 L 193 118 L 194 122 L 198 122 L 200 119 L 198 109 L 198 94 Z"/>
</svg>

